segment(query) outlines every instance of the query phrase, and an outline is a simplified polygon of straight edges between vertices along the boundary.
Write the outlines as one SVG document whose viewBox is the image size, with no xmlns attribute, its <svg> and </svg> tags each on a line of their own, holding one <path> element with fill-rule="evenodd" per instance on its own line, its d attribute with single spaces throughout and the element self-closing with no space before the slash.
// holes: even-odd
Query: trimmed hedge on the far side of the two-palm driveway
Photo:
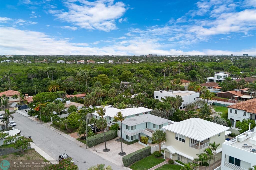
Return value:
<svg viewBox="0 0 256 170">
<path fill-rule="evenodd" d="M 109 130 L 105 132 L 105 138 L 106 141 L 114 139 L 116 136 L 116 132 L 114 130 Z M 103 133 L 99 133 L 97 135 L 91 136 L 87 138 L 87 146 L 88 147 L 93 147 L 97 144 L 103 143 L 104 142 L 104 135 Z"/>
</svg>

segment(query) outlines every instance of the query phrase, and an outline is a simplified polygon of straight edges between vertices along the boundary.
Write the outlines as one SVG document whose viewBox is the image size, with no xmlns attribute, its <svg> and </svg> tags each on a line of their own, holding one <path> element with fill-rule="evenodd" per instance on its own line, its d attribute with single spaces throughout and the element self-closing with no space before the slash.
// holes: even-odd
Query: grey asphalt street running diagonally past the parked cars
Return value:
<svg viewBox="0 0 256 170">
<path fill-rule="evenodd" d="M 26 116 L 19 113 L 13 116 L 13 121 L 17 124 L 15 128 L 19 129 L 23 136 L 31 136 L 34 143 L 55 160 L 58 160 L 60 154 L 66 153 L 73 158 L 79 169 L 87 169 L 101 163 L 112 166 L 114 170 L 123 169 Z"/>
</svg>

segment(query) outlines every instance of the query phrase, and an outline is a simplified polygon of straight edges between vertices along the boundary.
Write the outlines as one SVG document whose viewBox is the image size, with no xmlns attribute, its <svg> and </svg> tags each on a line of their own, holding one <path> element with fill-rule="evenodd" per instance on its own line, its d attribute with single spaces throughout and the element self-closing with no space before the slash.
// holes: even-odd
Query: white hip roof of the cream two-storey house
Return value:
<svg viewBox="0 0 256 170">
<path fill-rule="evenodd" d="M 229 129 L 229 127 L 200 118 L 190 118 L 163 128 L 198 141 L 203 141 Z"/>
</svg>

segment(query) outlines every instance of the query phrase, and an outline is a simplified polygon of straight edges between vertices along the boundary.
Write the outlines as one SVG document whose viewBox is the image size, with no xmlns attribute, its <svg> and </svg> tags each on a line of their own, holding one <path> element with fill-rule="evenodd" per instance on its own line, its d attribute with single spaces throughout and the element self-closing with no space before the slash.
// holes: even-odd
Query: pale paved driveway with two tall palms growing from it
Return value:
<svg viewBox="0 0 256 170">
<path fill-rule="evenodd" d="M 116 139 L 116 138 L 115 138 Z M 95 147 L 89 148 L 90 151 L 93 153 L 96 153 L 97 155 L 103 157 L 104 159 L 113 162 L 114 164 L 118 166 L 123 166 L 122 157 L 118 153 L 121 152 L 121 142 L 115 141 L 115 139 L 106 141 L 107 148 L 110 149 L 109 152 L 103 152 L 102 150 L 105 148 L 105 143 L 101 143 L 96 145 Z M 144 148 L 143 145 L 139 144 L 138 142 L 127 145 L 123 143 L 123 152 L 126 154 L 135 152 L 141 148 Z"/>
</svg>

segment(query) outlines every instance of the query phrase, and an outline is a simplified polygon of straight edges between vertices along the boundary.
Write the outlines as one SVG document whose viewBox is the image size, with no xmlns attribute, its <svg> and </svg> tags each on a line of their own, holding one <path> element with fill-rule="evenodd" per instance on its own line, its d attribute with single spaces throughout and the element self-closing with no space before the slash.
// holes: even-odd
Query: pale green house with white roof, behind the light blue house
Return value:
<svg viewBox="0 0 256 170">
<path fill-rule="evenodd" d="M 100 107 L 100 106 L 98 106 L 98 107 Z M 115 122 L 113 122 L 113 120 L 114 120 L 114 116 L 116 116 L 117 112 L 122 112 L 123 116 L 126 116 L 126 118 L 130 118 L 130 117 L 134 117 L 134 116 L 150 114 L 150 112 L 152 111 L 152 109 L 148 109 L 145 107 L 133 107 L 133 108 L 118 109 L 113 106 L 105 107 L 105 110 L 106 110 L 106 112 L 105 112 L 105 116 L 103 118 L 105 118 L 107 120 L 107 123 L 108 123 L 107 130 L 109 130 L 109 127 L 111 125 L 115 124 Z M 97 118 L 97 119 L 100 118 L 97 111 L 92 113 L 92 115 L 94 118 Z M 119 122 L 119 125 L 120 125 L 120 122 Z"/>
</svg>

